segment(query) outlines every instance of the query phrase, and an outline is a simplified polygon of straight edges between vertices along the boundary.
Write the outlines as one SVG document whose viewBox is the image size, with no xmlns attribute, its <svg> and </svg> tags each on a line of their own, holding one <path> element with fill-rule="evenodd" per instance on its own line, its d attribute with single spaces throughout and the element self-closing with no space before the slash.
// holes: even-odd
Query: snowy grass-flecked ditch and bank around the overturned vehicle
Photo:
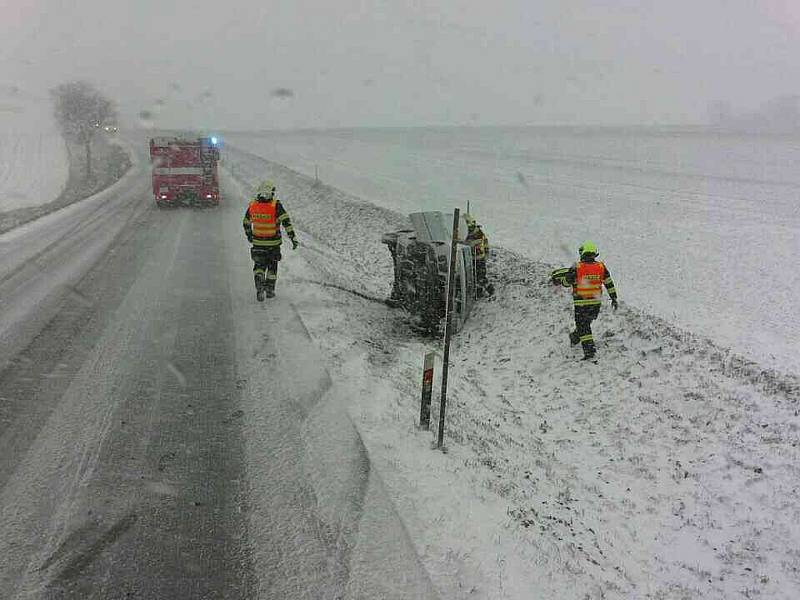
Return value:
<svg viewBox="0 0 800 600">
<path fill-rule="evenodd" d="M 382 297 L 380 235 L 404 216 L 233 148 L 228 164 L 277 182 L 317 273 L 285 273 L 279 294 L 303 290 L 296 307 L 442 597 L 800 594 L 797 378 L 624 303 L 597 322 L 600 363 L 580 363 L 551 265 L 498 250 L 497 300 L 452 351 L 449 452 L 432 451 L 415 422 L 435 341 L 324 287 Z"/>
</svg>

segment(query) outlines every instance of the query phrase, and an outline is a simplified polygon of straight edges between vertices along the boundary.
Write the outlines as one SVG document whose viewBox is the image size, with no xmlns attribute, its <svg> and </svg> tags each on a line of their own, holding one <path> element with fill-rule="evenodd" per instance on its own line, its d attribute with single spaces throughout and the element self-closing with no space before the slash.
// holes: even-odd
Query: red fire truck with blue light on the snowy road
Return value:
<svg viewBox="0 0 800 600">
<path fill-rule="evenodd" d="M 219 204 L 219 144 L 215 137 L 150 140 L 153 196 L 159 208 Z"/>
</svg>

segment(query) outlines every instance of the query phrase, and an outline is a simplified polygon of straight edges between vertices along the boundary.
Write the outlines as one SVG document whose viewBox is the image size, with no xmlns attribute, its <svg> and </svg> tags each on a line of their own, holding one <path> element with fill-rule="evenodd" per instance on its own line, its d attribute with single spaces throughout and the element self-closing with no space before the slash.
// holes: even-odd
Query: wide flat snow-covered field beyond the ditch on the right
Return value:
<svg viewBox="0 0 800 600">
<path fill-rule="evenodd" d="M 800 373 L 800 138 L 642 129 L 230 134 L 228 143 L 408 213 L 470 202 L 547 263 L 598 243 L 621 297 Z"/>
</svg>

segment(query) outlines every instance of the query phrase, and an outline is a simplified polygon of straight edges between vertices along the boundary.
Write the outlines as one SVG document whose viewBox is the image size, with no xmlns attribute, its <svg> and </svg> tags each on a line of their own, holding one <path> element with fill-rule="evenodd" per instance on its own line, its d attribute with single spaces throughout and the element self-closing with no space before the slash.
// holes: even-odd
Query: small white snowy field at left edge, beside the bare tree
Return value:
<svg viewBox="0 0 800 600">
<path fill-rule="evenodd" d="M 0 212 L 52 202 L 68 174 L 50 103 L 0 87 Z"/>
</svg>

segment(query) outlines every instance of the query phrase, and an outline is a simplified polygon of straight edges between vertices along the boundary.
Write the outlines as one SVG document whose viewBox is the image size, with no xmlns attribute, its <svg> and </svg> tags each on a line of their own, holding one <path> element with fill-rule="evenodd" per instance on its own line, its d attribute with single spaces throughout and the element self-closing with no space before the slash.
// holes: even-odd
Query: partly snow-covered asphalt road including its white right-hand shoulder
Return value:
<svg viewBox="0 0 800 600">
<path fill-rule="evenodd" d="M 0 236 L 0 598 L 435 596 L 241 204 Z"/>
</svg>

